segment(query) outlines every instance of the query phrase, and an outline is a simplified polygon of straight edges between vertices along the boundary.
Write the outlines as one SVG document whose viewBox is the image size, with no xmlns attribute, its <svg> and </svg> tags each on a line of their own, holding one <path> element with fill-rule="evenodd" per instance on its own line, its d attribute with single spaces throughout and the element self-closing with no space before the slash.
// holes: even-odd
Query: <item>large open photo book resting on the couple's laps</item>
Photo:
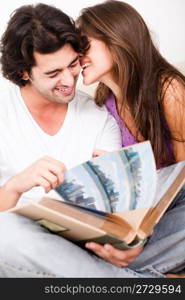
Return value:
<svg viewBox="0 0 185 300">
<path fill-rule="evenodd" d="M 143 244 L 185 184 L 185 161 L 156 169 L 149 141 L 107 152 L 64 174 L 61 200 L 42 198 L 9 211 L 80 246 Z"/>
</svg>

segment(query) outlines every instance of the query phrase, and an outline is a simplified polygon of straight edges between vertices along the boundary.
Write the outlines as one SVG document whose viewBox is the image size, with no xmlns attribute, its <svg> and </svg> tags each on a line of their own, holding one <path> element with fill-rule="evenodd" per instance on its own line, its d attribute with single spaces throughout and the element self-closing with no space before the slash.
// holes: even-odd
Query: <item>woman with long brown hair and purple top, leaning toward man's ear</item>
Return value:
<svg viewBox="0 0 185 300">
<path fill-rule="evenodd" d="M 85 85 L 99 82 L 95 101 L 100 106 L 105 104 L 116 118 L 123 146 L 150 140 L 158 168 L 185 160 L 185 77 L 161 56 L 138 12 L 127 3 L 106 1 L 83 9 L 77 25 L 89 40 L 89 48 L 81 58 L 83 82 Z M 177 208 L 171 208 L 175 219 L 180 216 L 176 215 L 176 209 L 185 209 L 184 199 L 185 193 L 182 193 L 174 203 Z M 159 222 L 145 254 L 152 253 L 152 242 L 156 253 L 159 237 L 162 252 L 162 239 L 170 235 L 170 220 L 173 222 L 167 213 Z M 177 225 L 174 230 L 173 239 L 180 227 Z M 172 245 L 167 246 L 163 252 L 163 256 L 167 255 L 166 262 L 170 261 L 168 249 Z M 125 251 L 109 245 L 88 243 L 87 248 L 118 266 L 127 265 L 137 256 L 130 253 L 125 259 Z M 177 255 L 177 247 L 174 251 Z M 181 248 L 179 251 L 183 261 L 179 269 L 174 267 L 177 266 L 174 260 L 170 268 L 165 269 L 168 263 L 164 268 L 159 267 L 161 273 L 185 267 Z M 145 266 L 145 254 L 129 266 L 134 269 L 138 265 Z M 158 255 L 156 257 L 160 257 L 160 253 Z"/>
</svg>

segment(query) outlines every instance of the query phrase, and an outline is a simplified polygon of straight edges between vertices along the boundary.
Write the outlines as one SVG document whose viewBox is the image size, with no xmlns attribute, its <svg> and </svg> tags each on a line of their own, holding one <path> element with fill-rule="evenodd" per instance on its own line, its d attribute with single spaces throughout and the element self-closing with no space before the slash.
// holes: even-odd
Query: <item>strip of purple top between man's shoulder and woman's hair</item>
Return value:
<svg viewBox="0 0 185 300">
<path fill-rule="evenodd" d="M 107 107 L 108 112 L 115 118 L 118 123 L 118 126 L 121 131 L 122 137 L 122 146 L 129 146 L 137 143 L 136 138 L 132 135 L 132 133 L 128 130 L 125 123 L 121 120 L 118 115 L 116 108 L 116 101 L 113 94 L 110 94 L 109 98 L 106 100 L 105 106 Z"/>
</svg>

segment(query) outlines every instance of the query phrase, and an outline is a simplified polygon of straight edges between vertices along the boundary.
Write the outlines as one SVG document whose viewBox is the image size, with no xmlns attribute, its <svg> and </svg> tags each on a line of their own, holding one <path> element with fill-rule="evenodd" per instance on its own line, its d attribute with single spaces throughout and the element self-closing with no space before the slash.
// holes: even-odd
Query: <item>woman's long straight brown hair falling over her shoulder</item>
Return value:
<svg viewBox="0 0 185 300">
<path fill-rule="evenodd" d="M 82 10 L 77 20 L 82 32 L 109 47 L 114 80 L 122 92 L 122 110 L 128 107 L 145 140 L 150 140 L 157 166 L 175 162 L 172 139 L 164 114 L 163 99 L 176 78 L 185 87 L 185 77 L 168 63 L 155 47 L 138 12 L 129 4 L 108 0 Z M 97 54 L 98 55 L 98 54 Z M 95 101 L 105 103 L 110 90 L 99 83 Z"/>
</svg>

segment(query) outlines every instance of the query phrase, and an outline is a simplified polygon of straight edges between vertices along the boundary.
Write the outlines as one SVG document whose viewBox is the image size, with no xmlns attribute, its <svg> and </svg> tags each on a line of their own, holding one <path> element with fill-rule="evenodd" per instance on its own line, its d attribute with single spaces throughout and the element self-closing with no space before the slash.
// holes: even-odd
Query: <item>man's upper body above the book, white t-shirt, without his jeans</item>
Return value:
<svg viewBox="0 0 185 300">
<path fill-rule="evenodd" d="M 1 43 L 2 72 L 14 84 L 0 97 L 0 210 L 21 195 L 19 203 L 43 196 L 43 188 L 62 183 L 65 166 L 90 159 L 97 149 L 120 148 L 115 121 L 75 92 L 79 54 L 87 45 L 54 7 L 23 6 L 10 19 Z"/>
</svg>

